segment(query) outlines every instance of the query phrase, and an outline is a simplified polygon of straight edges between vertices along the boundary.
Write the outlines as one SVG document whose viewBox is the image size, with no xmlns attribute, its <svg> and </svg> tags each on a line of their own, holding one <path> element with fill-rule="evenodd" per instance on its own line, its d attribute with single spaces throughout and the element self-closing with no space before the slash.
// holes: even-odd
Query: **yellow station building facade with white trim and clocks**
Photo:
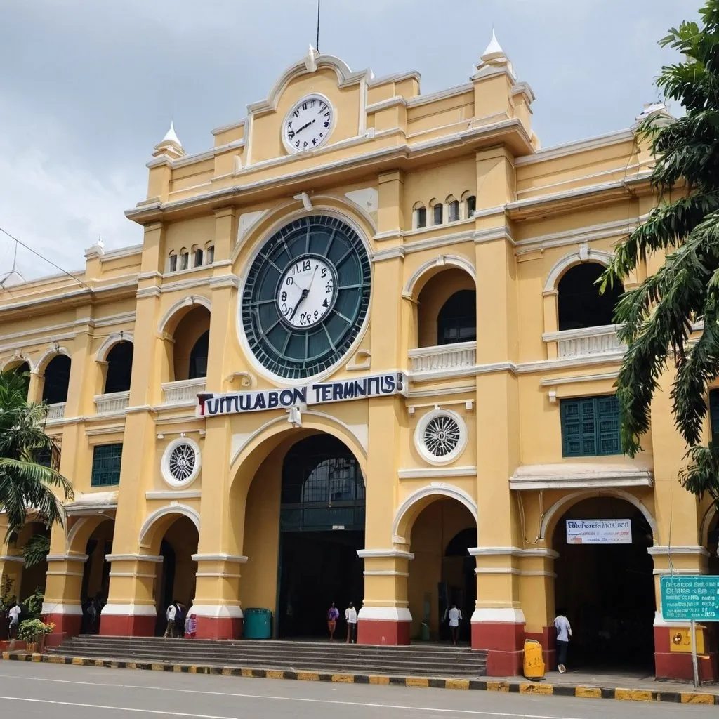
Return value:
<svg viewBox="0 0 719 719">
<path fill-rule="evenodd" d="M 659 578 L 713 570 L 716 518 L 677 481 L 668 391 L 620 454 L 620 290 L 594 284 L 656 203 L 649 152 L 633 129 L 542 150 L 494 38 L 465 85 L 419 81 L 311 50 L 210 150 L 170 129 L 127 211 L 142 245 L 0 294 L 0 367 L 49 403 L 75 487 L 58 636 L 152 634 L 173 599 L 201 637 L 248 608 L 313 636 L 352 601 L 360 643 L 404 644 L 456 604 L 506 675 L 526 637 L 553 660 L 562 609 L 575 656 L 691 675 Z M 624 532 L 577 544 L 567 521 Z M 19 595 L 41 529 L 0 549 Z M 702 630 L 707 673 L 714 647 Z"/>
</svg>

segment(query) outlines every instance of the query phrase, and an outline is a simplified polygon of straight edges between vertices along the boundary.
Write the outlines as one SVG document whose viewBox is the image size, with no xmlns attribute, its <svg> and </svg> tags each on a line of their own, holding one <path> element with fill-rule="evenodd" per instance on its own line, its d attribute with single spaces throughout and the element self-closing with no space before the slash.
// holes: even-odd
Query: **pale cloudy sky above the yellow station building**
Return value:
<svg viewBox="0 0 719 719">
<path fill-rule="evenodd" d="M 494 25 L 557 145 L 628 127 L 674 60 L 656 40 L 701 0 L 321 0 L 320 49 L 375 75 L 464 83 Z M 0 227 L 65 269 L 142 242 L 145 196 L 174 119 L 188 152 L 244 117 L 313 42 L 316 0 L 0 0 Z M 13 243 L 0 235 L 0 275 Z M 54 273 L 26 251 L 27 277 Z"/>
</svg>

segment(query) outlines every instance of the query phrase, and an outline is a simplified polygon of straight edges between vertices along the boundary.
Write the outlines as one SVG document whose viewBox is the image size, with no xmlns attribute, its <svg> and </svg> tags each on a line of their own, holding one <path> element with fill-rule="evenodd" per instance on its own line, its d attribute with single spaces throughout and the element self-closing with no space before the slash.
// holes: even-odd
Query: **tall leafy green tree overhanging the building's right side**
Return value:
<svg viewBox="0 0 719 719">
<path fill-rule="evenodd" d="M 659 205 L 620 242 L 603 278 L 607 288 L 647 257 L 666 255 L 615 311 L 628 345 L 617 390 L 621 439 L 632 457 L 641 449 L 651 399 L 673 363 L 674 421 L 689 446 L 680 479 L 719 506 L 719 445 L 702 444 L 707 385 L 719 376 L 719 0 L 707 0 L 700 23 L 682 22 L 659 45 L 683 55 L 662 68 L 657 86 L 685 114 L 673 122 L 649 116 L 639 128 L 656 157 L 651 184 Z M 692 337 L 699 321 L 703 331 Z"/>
</svg>

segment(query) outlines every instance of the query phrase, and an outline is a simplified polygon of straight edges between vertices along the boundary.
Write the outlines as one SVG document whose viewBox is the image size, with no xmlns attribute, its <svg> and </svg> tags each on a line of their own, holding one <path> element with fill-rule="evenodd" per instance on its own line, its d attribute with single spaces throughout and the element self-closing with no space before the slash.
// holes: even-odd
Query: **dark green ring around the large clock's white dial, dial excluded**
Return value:
<svg viewBox="0 0 719 719">
<path fill-rule="evenodd" d="M 331 310 L 313 326 L 294 327 L 278 307 L 278 283 L 293 263 L 324 257 L 334 270 Z M 263 242 L 242 288 L 242 330 L 262 367 L 303 380 L 336 365 L 362 331 L 370 306 L 372 267 L 359 233 L 331 215 L 301 217 Z"/>
</svg>

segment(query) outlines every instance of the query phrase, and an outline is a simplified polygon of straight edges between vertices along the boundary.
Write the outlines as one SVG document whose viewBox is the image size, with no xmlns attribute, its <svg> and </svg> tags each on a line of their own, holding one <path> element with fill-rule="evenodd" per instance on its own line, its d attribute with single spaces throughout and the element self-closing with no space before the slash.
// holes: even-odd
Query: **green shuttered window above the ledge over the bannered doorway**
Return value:
<svg viewBox="0 0 719 719">
<path fill-rule="evenodd" d="M 621 454 L 619 403 L 614 395 L 560 400 L 562 455 L 597 457 Z"/>
</svg>

